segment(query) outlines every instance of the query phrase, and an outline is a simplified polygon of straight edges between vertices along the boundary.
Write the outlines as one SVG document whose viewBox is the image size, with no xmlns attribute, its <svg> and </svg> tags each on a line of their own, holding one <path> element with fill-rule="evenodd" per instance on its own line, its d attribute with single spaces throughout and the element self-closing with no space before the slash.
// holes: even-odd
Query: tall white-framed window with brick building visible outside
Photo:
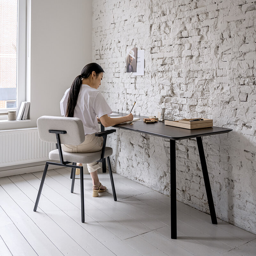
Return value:
<svg viewBox="0 0 256 256">
<path fill-rule="evenodd" d="M 26 0 L 0 1 L 0 112 L 26 95 Z"/>
</svg>

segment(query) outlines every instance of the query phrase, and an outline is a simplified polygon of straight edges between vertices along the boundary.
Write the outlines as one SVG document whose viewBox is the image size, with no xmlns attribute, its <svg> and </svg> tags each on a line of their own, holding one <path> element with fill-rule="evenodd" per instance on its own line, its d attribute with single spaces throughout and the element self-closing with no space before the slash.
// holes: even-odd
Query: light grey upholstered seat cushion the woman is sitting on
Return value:
<svg viewBox="0 0 256 256">
<path fill-rule="evenodd" d="M 104 157 L 111 156 L 113 153 L 112 148 L 106 147 Z M 100 160 L 101 150 L 93 153 L 69 153 L 62 150 L 63 160 L 68 162 L 90 164 Z M 59 160 L 59 150 L 55 149 L 49 153 L 49 158 L 52 160 Z"/>
</svg>

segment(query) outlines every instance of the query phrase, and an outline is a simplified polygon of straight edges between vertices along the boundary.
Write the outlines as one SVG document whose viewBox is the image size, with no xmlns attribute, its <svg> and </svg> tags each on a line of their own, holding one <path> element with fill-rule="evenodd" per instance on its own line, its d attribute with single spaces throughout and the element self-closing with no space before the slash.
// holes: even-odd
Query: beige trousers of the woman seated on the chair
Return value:
<svg viewBox="0 0 256 256">
<path fill-rule="evenodd" d="M 102 149 L 102 146 L 103 146 L 103 138 L 96 137 L 95 133 L 85 135 L 84 142 L 79 145 L 61 144 L 62 149 L 69 153 L 97 152 Z M 87 164 L 87 168 L 89 172 L 95 172 L 98 169 L 100 169 L 101 166 L 99 162 L 93 162 L 91 164 Z"/>
</svg>

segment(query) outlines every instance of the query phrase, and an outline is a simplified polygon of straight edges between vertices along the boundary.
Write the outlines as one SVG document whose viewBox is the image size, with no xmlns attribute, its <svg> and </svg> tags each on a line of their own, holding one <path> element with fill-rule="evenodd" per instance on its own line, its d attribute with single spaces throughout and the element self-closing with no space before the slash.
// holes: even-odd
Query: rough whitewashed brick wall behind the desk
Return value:
<svg viewBox="0 0 256 256">
<path fill-rule="evenodd" d="M 256 10 L 247 0 L 94 0 L 92 59 L 115 111 L 212 118 L 204 137 L 217 217 L 256 233 Z M 125 73 L 126 49 L 145 49 L 145 76 Z M 118 130 L 113 169 L 170 193 L 169 141 Z M 110 140 L 109 140 L 110 141 Z M 209 212 L 196 140 L 177 143 L 177 199 Z M 210 217 L 209 217 L 210 221 Z"/>
</svg>

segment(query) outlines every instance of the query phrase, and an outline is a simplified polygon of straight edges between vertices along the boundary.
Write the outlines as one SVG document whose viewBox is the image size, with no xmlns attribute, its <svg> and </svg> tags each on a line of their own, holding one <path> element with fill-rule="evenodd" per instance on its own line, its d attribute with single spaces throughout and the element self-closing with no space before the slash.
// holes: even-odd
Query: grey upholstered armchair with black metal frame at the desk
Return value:
<svg viewBox="0 0 256 256">
<path fill-rule="evenodd" d="M 37 119 L 37 128 L 39 133 L 39 138 L 46 142 L 56 142 L 57 149 L 52 150 L 49 153 L 49 158 L 51 160 L 60 161 L 60 163 L 55 162 L 46 162 L 43 177 L 41 180 L 41 184 L 38 190 L 36 203 L 34 207 L 34 212 L 36 212 L 37 205 L 40 199 L 40 195 L 42 192 L 42 188 L 44 185 L 44 180 L 46 176 L 46 172 L 48 166 L 58 165 L 64 167 L 72 168 L 71 171 L 71 193 L 74 192 L 74 184 L 75 184 L 75 170 L 76 168 L 80 169 L 80 184 L 81 184 L 81 214 L 82 214 L 82 222 L 84 222 L 84 170 L 83 166 L 76 166 L 76 163 L 92 163 L 92 162 L 103 162 L 104 158 L 107 157 L 108 169 L 110 175 L 110 181 L 113 191 L 114 200 L 116 201 L 116 190 L 113 180 L 112 169 L 110 165 L 109 156 L 112 155 L 112 148 L 106 147 L 107 135 L 116 130 L 111 129 L 104 132 L 95 133 L 95 136 L 103 137 L 103 147 L 101 151 L 93 152 L 93 153 L 68 153 L 61 150 L 61 144 L 70 144 L 70 145 L 78 145 L 84 142 L 84 126 L 82 121 L 76 117 L 59 117 L 59 116 L 41 116 Z M 72 163 L 72 164 L 70 164 Z"/>
</svg>

